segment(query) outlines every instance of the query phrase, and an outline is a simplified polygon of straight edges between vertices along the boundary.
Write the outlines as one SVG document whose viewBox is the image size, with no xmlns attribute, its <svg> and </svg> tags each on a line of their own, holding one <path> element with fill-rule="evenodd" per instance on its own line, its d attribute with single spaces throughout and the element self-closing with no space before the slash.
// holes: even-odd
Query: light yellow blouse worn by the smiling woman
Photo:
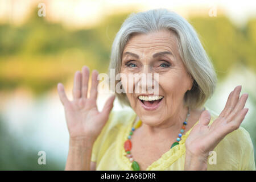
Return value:
<svg viewBox="0 0 256 182">
<path fill-rule="evenodd" d="M 207 110 L 209 108 L 205 107 Z M 218 117 L 212 115 L 210 123 Z M 106 125 L 93 144 L 92 162 L 97 171 L 130 171 L 131 162 L 123 147 L 137 114 L 133 110 L 112 111 Z M 198 122 L 198 121 L 197 121 Z M 195 125 L 197 124 L 195 123 Z M 194 125 L 194 126 L 195 126 Z M 193 127 L 192 127 L 193 128 Z M 183 170 L 185 163 L 185 140 L 192 128 L 182 137 L 178 145 L 165 152 L 147 167 L 147 171 Z M 255 170 L 254 149 L 250 134 L 240 126 L 226 135 L 208 158 L 208 170 Z"/>
</svg>

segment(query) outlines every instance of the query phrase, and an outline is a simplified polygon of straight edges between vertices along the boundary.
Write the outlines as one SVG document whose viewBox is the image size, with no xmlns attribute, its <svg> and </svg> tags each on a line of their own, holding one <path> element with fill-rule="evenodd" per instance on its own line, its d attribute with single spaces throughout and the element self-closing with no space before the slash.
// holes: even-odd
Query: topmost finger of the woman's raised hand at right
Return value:
<svg viewBox="0 0 256 182">
<path fill-rule="evenodd" d="M 236 88 L 233 90 L 232 96 L 230 97 L 230 103 L 226 106 L 224 109 L 224 113 L 222 113 L 221 117 L 227 117 L 229 113 L 231 113 L 234 110 L 234 107 L 237 105 L 237 102 L 240 97 L 242 86 L 236 86 Z"/>
</svg>

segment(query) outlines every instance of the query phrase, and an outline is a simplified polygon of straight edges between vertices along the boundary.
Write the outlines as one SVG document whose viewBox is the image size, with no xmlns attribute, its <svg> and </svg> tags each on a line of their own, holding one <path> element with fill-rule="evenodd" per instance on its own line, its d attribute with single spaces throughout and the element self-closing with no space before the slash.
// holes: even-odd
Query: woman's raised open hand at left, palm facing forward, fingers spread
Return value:
<svg viewBox="0 0 256 182">
<path fill-rule="evenodd" d="M 90 140 L 94 143 L 100 135 L 109 113 L 112 110 L 115 96 L 110 97 L 101 112 L 96 105 L 98 72 L 92 72 L 92 86 L 90 97 L 88 98 L 89 68 L 82 67 L 82 72 L 75 73 L 73 84 L 73 101 L 69 101 L 64 90 L 63 84 L 57 85 L 60 101 L 64 106 L 65 118 L 68 125 L 70 139 L 72 140 Z"/>
</svg>

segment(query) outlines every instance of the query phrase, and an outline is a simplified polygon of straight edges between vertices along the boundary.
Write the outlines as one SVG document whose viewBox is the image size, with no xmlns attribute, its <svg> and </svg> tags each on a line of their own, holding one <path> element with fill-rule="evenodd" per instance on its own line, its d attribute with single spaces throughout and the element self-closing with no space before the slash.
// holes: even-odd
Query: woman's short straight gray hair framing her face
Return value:
<svg viewBox="0 0 256 182">
<path fill-rule="evenodd" d="M 180 15 L 167 9 L 155 9 L 129 15 L 115 36 L 109 73 L 110 69 L 115 69 L 115 75 L 120 73 L 123 49 L 131 36 L 137 33 L 147 34 L 163 29 L 175 32 L 181 59 L 189 75 L 193 78 L 192 89 L 185 93 L 184 105 L 191 107 L 191 109 L 199 108 L 205 104 L 214 92 L 217 81 L 216 73 L 191 24 Z M 115 81 L 115 85 L 117 82 Z M 122 105 L 130 106 L 125 93 L 115 94 Z"/>
</svg>

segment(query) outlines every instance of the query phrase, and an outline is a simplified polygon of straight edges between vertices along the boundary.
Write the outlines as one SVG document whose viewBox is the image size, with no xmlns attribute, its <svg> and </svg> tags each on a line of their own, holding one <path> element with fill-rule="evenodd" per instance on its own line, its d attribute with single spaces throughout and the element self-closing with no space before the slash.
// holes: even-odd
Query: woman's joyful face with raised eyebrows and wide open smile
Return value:
<svg viewBox="0 0 256 182">
<path fill-rule="evenodd" d="M 193 80 L 179 55 L 174 32 L 161 30 L 132 36 L 123 51 L 121 73 L 127 78 L 121 77 L 121 82 L 130 105 L 144 123 L 156 126 L 184 110 L 183 97 L 192 88 Z M 153 86 L 158 84 L 159 91 L 151 95 L 158 97 L 148 96 L 148 90 L 136 93 L 135 89 L 142 90 L 146 82 L 138 77 L 135 81 L 129 79 L 129 73 L 152 73 Z M 154 80 L 155 74 L 158 80 Z M 133 93 L 128 93 L 131 86 Z"/>
</svg>

